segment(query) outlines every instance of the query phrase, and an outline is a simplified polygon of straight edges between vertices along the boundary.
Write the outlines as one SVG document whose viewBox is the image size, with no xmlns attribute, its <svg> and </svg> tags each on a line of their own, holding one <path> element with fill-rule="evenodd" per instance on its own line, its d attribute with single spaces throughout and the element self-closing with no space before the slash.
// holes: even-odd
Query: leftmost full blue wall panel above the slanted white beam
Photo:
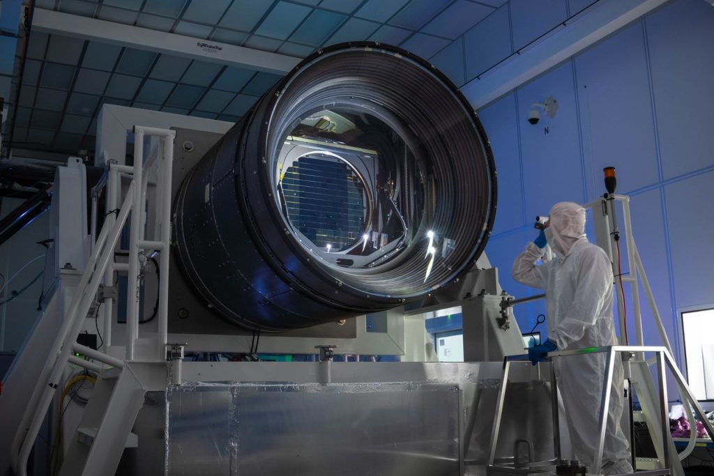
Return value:
<svg viewBox="0 0 714 476">
<path fill-rule="evenodd" d="M 464 35 L 466 81 L 491 68 L 511 54 L 508 5 L 502 6 Z"/>
</svg>

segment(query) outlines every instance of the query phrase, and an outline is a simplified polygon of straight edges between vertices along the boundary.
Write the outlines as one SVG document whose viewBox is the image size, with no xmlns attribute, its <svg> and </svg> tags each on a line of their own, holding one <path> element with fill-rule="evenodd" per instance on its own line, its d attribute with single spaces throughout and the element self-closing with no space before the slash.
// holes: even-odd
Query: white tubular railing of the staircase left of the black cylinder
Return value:
<svg viewBox="0 0 714 476">
<path fill-rule="evenodd" d="M 157 161 L 158 154 L 154 154 L 144 162 L 144 137 L 156 136 L 162 139 L 161 160 Z M 107 211 L 104 226 L 102 226 L 96 242 L 80 280 L 76 295 L 71 301 L 59 333 L 52 344 L 49 357 L 37 379 L 37 384 L 30 397 L 18 431 L 11 447 L 12 465 L 18 476 L 27 475 L 27 460 L 34 445 L 47 410 L 59 388 L 61 376 L 67 363 L 82 365 L 99 372 L 104 365 L 114 368 L 123 368 L 124 361 L 113 358 L 105 353 L 98 352 L 84 345 L 76 343 L 84 318 L 91 305 L 94 303 L 97 290 L 102 280 L 104 285 L 114 287 L 114 271 L 126 270 L 129 272 L 129 288 L 127 293 L 127 318 L 126 318 L 126 361 L 135 360 L 136 342 L 139 339 L 139 289 L 140 261 L 139 256 L 145 255 L 146 250 L 164 250 L 159 260 L 161 280 L 159 283 L 159 331 L 156 335 L 156 353 L 148 360 L 166 360 L 166 332 L 167 310 L 169 294 L 169 243 L 171 238 L 171 173 L 174 161 L 174 138 L 176 133 L 166 129 L 134 127 L 134 165 L 120 166 L 108 163 L 106 174 Z M 158 186 L 156 187 L 157 204 L 156 230 L 159 232 L 157 240 L 145 239 L 146 221 L 146 188 L 151 168 L 156 167 Z M 126 174 L 131 177 L 131 183 L 126 191 L 121 207 L 117 210 L 121 196 L 121 177 Z M 94 195 L 94 194 L 93 194 Z M 131 248 L 129 250 L 129 265 L 114 263 L 116 245 L 124 228 L 124 223 L 131 213 Z M 115 215 L 116 213 L 116 215 Z M 96 233 L 96 221 L 93 219 L 93 235 Z M 111 296 L 104 298 L 104 332 L 105 349 L 111 343 L 111 323 L 113 316 L 113 302 Z M 79 352 L 96 360 L 91 363 L 76 358 L 74 352 Z M 146 356 L 142 356 L 146 359 Z"/>
</svg>

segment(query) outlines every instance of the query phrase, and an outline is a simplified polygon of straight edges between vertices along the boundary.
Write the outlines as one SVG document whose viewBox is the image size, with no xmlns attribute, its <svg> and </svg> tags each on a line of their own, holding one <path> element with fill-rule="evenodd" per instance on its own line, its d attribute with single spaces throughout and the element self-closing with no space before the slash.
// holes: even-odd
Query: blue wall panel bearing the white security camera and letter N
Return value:
<svg viewBox="0 0 714 476">
<path fill-rule="evenodd" d="M 555 118 L 541 114 L 538 124 L 528 123 L 526 118 L 531 105 L 551 94 L 559 104 Z M 518 89 L 518 120 L 521 121 L 526 223 L 547 214 L 554 203 L 582 203 L 585 198 L 583 171 L 570 62 Z"/>
</svg>

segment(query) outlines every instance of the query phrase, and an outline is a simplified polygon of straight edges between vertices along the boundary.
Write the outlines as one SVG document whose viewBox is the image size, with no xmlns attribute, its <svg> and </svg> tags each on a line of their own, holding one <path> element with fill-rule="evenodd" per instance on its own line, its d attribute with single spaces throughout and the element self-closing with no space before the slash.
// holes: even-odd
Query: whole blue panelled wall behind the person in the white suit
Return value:
<svg viewBox="0 0 714 476">
<path fill-rule="evenodd" d="M 464 35 L 461 76 L 470 79 L 466 71 L 493 63 L 493 51 L 513 51 L 589 3 L 511 1 L 502 7 L 508 14 L 493 14 Z M 488 35 L 506 21 L 510 38 Z M 673 0 L 479 111 L 498 169 L 498 214 L 486 252 L 503 270 L 504 289 L 535 293 L 509 275 L 515 255 L 535 238 L 535 216 L 558 201 L 602 195 L 602 168 L 615 166 L 618 193 L 632 197 L 634 236 L 658 309 L 683 363 L 680 310 L 714 304 L 713 78 L 714 8 Z M 531 126 L 531 103 L 549 95 L 560 105 L 557 116 Z M 529 306 L 518 309 L 524 332 L 545 311 L 542 301 Z M 646 303 L 643 314 L 645 343 L 656 344 Z"/>
</svg>

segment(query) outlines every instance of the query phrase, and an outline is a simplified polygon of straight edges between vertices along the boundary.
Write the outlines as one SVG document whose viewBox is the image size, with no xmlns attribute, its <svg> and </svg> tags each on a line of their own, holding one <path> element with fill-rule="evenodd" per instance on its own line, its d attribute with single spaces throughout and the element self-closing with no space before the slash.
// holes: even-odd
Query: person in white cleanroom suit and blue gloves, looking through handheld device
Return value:
<svg viewBox="0 0 714 476">
<path fill-rule="evenodd" d="M 548 341 L 529 349 L 533 365 L 548 352 L 615 345 L 613 270 L 605 251 L 585 238 L 585 209 L 556 203 L 545 231 L 528 243 L 513 263 L 519 283 L 545 290 Z M 536 265 L 545 245 L 555 258 Z M 598 409 L 605 376 L 605 354 L 554 358 L 555 377 L 565 406 L 570 439 L 580 463 L 593 462 L 598 444 Z M 623 412 L 623 368 L 615 361 L 603 450 L 603 474 L 632 472 L 628 440 L 620 427 Z"/>
</svg>

